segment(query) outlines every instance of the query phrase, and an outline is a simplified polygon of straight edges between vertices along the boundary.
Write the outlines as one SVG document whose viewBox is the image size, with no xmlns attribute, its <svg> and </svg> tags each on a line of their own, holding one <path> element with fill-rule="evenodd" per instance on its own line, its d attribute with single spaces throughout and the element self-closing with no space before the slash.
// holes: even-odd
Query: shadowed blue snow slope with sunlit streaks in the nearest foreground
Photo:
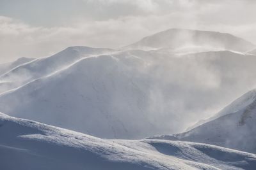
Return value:
<svg viewBox="0 0 256 170">
<path fill-rule="evenodd" d="M 164 140 L 106 140 L 0 113 L 0 169 L 255 169 L 256 155 Z"/>
</svg>

